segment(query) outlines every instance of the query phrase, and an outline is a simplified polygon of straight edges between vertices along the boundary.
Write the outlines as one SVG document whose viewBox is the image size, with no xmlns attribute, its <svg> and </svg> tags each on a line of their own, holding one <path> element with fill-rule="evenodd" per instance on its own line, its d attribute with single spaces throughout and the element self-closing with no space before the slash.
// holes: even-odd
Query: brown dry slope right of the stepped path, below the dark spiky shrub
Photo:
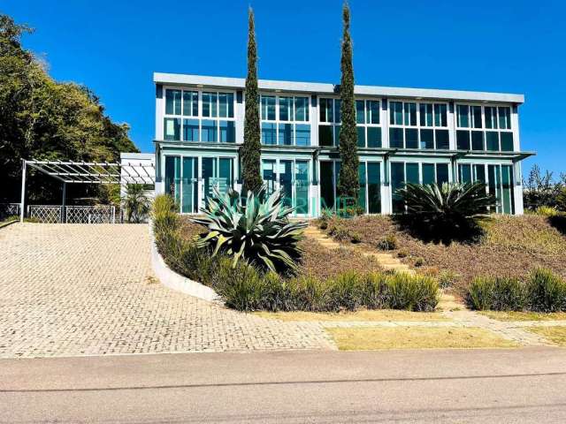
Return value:
<svg viewBox="0 0 566 424">
<path fill-rule="evenodd" d="M 376 249 L 388 234 L 397 239 L 397 250 L 407 251 L 402 261 L 412 264 L 424 258 L 432 273 L 439 270 L 455 274 L 456 283 L 465 286 L 474 276 L 524 276 L 535 267 L 552 269 L 566 277 L 566 237 L 546 216 L 493 216 L 482 223 L 486 234 L 478 243 L 452 243 L 450 246 L 424 243 L 400 231 L 389 216 L 359 216 L 340 220 L 340 225 L 361 234 L 365 248 Z"/>
</svg>

